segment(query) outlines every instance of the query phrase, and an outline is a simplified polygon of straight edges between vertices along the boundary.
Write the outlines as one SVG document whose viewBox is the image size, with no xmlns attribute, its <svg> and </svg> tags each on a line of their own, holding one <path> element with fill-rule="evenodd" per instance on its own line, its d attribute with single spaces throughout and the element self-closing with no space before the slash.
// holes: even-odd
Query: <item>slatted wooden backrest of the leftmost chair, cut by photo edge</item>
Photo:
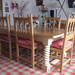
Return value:
<svg viewBox="0 0 75 75">
<path fill-rule="evenodd" d="M 10 37 L 10 16 L 0 17 L 0 34 L 5 34 Z"/>
</svg>

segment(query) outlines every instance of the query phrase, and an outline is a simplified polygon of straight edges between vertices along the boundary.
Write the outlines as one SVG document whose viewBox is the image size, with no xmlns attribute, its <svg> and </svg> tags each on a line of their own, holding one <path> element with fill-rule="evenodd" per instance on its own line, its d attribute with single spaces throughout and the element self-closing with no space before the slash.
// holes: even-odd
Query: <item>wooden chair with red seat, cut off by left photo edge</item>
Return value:
<svg viewBox="0 0 75 75">
<path fill-rule="evenodd" d="M 15 37 L 11 37 L 10 33 L 10 16 L 0 17 L 0 54 L 7 54 L 12 59 L 14 40 Z"/>
</svg>

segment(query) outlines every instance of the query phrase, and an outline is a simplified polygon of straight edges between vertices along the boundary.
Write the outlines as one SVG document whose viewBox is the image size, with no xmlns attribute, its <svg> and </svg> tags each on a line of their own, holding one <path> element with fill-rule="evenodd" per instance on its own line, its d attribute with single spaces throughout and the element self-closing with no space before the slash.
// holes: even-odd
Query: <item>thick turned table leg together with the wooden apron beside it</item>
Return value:
<svg viewBox="0 0 75 75">
<path fill-rule="evenodd" d="M 50 61 L 50 46 L 53 42 L 52 38 L 42 38 L 42 37 L 35 37 L 35 40 L 41 41 L 44 44 L 44 60 L 42 63 L 42 70 L 48 72 L 50 71 L 51 65 Z"/>
</svg>

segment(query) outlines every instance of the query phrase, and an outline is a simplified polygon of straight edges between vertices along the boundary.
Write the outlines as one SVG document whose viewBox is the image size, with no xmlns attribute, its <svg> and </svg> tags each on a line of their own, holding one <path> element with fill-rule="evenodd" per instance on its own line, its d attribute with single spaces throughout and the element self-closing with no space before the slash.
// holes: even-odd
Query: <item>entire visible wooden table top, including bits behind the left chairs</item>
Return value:
<svg viewBox="0 0 75 75">
<path fill-rule="evenodd" d="M 6 30 L 6 27 L 0 27 L 0 30 L 3 30 L 1 32 L 5 32 L 4 30 Z M 14 27 L 11 27 L 11 32 L 14 32 Z M 63 35 L 64 33 L 64 29 L 60 29 L 58 30 L 57 28 L 55 29 L 51 29 L 51 28 L 46 28 L 44 29 L 44 27 L 39 27 L 34 29 L 34 36 L 39 36 L 39 37 L 48 37 L 48 38 L 53 38 L 54 36 L 57 35 Z"/>
</svg>

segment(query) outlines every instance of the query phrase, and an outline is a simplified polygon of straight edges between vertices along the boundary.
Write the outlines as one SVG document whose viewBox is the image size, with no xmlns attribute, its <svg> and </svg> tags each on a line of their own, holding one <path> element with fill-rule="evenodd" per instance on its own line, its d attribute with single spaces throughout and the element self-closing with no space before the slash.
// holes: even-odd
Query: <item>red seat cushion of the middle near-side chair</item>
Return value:
<svg viewBox="0 0 75 75">
<path fill-rule="evenodd" d="M 22 45 L 26 45 L 26 46 L 32 45 L 32 42 L 30 40 L 18 40 L 17 43 L 22 44 Z M 41 44 L 42 44 L 42 42 L 38 42 L 38 41 L 34 42 L 34 46 L 39 46 Z"/>
</svg>

